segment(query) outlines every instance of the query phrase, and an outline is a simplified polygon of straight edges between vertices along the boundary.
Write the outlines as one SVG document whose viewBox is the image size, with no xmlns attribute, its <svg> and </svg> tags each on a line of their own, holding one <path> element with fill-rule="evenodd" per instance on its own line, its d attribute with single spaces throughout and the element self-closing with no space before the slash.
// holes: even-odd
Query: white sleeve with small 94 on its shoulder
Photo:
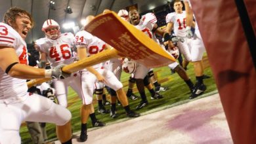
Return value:
<svg viewBox="0 0 256 144">
<path fill-rule="evenodd" d="M 77 48 L 87 48 L 88 45 L 91 43 L 92 39 L 93 35 L 91 35 L 91 33 L 88 33 L 87 31 L 79 31 L 75 34 L 75 46 Z"/>
</svg>

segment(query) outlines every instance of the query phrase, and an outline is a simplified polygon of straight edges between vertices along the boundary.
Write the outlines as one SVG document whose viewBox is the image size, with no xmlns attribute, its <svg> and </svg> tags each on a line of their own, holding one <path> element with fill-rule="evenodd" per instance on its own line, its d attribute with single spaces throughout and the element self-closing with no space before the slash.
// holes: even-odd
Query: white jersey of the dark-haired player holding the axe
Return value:
<svg viewBox="0 0 256 144">
<path fill-rule="evenodd" d="M 26 42 L 11 26 L 0 22 L 0 46 L 14 48 L 22 64 L 28 64 Z M 8 55 L 8 54 L 7 54 Z M 11 77 L 0 69 L 0 99 L 26 96 L 26 80 Z"/>
</svg>

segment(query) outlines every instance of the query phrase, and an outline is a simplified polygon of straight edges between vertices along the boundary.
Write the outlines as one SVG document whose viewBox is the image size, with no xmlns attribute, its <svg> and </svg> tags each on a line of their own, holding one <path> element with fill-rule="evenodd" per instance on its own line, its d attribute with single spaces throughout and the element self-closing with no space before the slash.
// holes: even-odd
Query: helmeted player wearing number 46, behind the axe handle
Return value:
<svg viewBox="0 0 256 144">
<path fill-rule="evenodd" d="M 45 20 L 42 31 L 45 33 L 45 37 L 35 41 L 35 45 L 40 50 L 40 65 L 50 62 L 51 67 L 56 67 L 62 63 L 70 64 L 74 62 L 72 56 L 72 48 L 74 47 L 74 35 L 72 33 L 60 33 L 60 26 L 54 20 Z M 79 71 L 72 73 L 71 77 L 67 79 L 53 79 L 56 98 L 58 103 L 63 107 L 68 106 L 68 86 L 71 86 L 73 90 L 78 94 L 79 98 L 85 99 L 85 91 L 82 89 L 84 79 L 81 79 L 81 73 Z M 83 103 L 85 104 L 85 103 Z M 103 122 L 100 122 L 95 117 L 95 111 L 93 105 L 91 106 L 90 117 L 92 119 L 93 126 L 104 126 Z M 87 113 L 81 113 L 81 119 Z"/>
</svg>

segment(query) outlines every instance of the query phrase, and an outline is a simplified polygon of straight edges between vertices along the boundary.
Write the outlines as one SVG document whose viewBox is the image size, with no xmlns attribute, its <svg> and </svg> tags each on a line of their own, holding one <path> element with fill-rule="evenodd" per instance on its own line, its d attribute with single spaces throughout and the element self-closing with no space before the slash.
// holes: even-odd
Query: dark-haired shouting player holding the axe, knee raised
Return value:
<svg viewBox="0 0 256 144">
<path fill-rule="evenodd" d="M 51 99 L 28 95 L 26 79 L 65 78 L 64 65 L 37 69 L 28 65 L 24 39 L 32 29 L 32 16 L 16 7 L 5 13 L 0 23 L 0 143 L 21 143 L 19 130 L 23 121 L 51 122 L 61 143 L 72 143 L 70 111 Z"/>
</svg>

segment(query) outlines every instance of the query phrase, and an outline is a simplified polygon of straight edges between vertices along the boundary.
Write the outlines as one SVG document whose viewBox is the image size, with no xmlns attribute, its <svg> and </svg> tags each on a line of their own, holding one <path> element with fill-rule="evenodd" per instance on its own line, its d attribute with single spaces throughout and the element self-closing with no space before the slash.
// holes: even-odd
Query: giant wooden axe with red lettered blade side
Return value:
<svg viewBox="0 0 256 144">
<path fill-rule="evenodd" d="M 115 57 L 132 58 L 146 65 L 146 67 L 161 67 L 175 62 L 175 58 L 163 50 L 158 43 L 135 26 L 119 18 L 115 12 L 110 11 L 96 16 L 85 26 L 85 30 L 114 48 L 66 65 L 62 68 L 62 71 L 73 73 Z M 41 84 L 49 80 L 34 79 L 27 82 L 27 84 L 30 88 L 35 84 Z"/>
</svg>

